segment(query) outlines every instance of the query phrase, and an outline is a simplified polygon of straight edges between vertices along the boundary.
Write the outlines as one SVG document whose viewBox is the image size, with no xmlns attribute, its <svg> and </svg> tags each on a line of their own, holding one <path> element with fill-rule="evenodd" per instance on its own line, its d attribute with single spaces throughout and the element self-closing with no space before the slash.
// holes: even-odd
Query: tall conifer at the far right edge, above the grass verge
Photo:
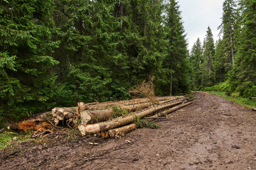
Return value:
<svg viewBox="0 0 256 170">
<path fill-rule="evenodd" d="M 256 2 L 240 1 L 242 20 L 238 35 L 238 49 L 235 65 L 230 73 L 231 91 L 237 91 L 241 96 L 256 96 Z"/>
</svg>

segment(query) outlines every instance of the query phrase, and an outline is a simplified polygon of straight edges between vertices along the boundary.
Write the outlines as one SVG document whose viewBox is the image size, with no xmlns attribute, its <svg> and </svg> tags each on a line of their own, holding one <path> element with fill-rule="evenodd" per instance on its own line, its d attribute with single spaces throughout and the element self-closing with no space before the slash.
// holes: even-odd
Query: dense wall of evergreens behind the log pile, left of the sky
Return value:
<svg viewBox="0 0 256 170">
<path fill-rule="evenodd" d="M 180 13 L 175 9 L 172 16 L 178 33 L 171 40 L 162 0 L 0 2 L 1 118 L 53 104 L 127 99 L 130 87 L 151 77 L 156 93 L 166 95 L 171 71 L 174 94 L 188 90 Z M 183 51 L 172 58 L 171 41 L 172 49 Z M 173 70 L 164 67 L 166 61 Z"/>
</svg>

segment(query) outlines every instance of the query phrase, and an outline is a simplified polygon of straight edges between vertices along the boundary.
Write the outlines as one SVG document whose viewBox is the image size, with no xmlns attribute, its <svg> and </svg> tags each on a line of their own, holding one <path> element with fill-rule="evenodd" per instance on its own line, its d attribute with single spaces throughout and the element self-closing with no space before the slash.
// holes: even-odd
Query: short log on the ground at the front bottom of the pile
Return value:
<svg viewBox="0 0 256 170">
<path fill-rule="evenodd" d="M 121 128 L 102 131 L 101 134 L 103 138 L 108 138 L 108 137 L 113 138 L 113 137 L 117 137 L 117 135 L 123 135 L 123 134 L 129 133 L 130 131 L 135 130 L 137 128 L 139 128 L 139 125 L 130 124 L 127 126 L 122 126 Z"/>
</svg>

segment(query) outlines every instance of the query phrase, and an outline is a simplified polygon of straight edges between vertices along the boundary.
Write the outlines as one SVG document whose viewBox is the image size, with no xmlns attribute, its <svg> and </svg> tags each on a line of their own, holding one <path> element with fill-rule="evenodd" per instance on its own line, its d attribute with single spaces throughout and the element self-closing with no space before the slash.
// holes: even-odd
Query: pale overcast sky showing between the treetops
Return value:
<svg viewBox="0 0 256 170">
<path fill-rule="evenodd" d="M 214 42 L 218 40 L 217 30 L 221 24 L 222 3 L 224 0 L 177 0 L 179 1 L 183 25 L 187 33 L 188 49 L 199 37 L 203 44 L 208 26 L 212 29 Z"/>
</svg>

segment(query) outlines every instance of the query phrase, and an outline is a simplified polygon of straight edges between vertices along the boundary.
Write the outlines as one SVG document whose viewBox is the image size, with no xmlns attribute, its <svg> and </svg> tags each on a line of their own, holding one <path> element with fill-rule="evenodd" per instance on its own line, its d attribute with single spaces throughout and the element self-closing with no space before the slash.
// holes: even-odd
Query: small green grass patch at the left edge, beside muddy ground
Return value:
<svg viewBox="0 0 256 170">
<path fill-rule="evenodd" d="M 16 139 L 14 139 L 16 137 Z M 16 146 L 18 143 L 25 141 L 26 139 L 30 138 L 30 135 L 20 135 L 11 132 L 5 132 L 0 134 L 0 150 Z"/>
</svg>

